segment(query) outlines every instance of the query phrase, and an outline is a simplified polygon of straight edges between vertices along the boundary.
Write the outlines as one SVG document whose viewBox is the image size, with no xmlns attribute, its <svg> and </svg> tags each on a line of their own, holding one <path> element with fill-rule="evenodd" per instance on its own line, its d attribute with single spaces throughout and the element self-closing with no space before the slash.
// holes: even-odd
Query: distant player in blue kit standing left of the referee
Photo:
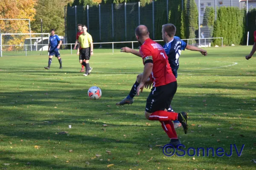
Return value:
<svg viewBox="0 0 256 170">
<path fill-rule="evenodd" d="M 49 60 L 48 60 L 48 66 L 44 67 L 45 69 L 50 69 L 51 63 L 52 63 L 52 57 L 55 55 L 55 57 L 58 57 L 58 61 L 60 63 L 60 69 L 62 68 L 62 61 L 61 61 L 61 55 L 60 55 L 60 47 L 62 44 L 61 39 L 58 37 L 58 35 L 55 34 L 55 30 L 51 29 L 51 36 L 49 37 L 49 45 L 48 45 L 48 52 L 49 52 Z"/>
</svg>

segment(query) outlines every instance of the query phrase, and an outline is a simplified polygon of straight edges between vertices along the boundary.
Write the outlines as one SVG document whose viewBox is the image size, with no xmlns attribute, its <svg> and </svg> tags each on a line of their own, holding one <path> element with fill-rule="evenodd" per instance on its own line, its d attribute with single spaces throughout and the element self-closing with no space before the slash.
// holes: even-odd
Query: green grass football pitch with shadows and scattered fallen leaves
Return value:
<svg viewBox="0 0 256 170">
<path fill-rule="evenodd" d="M 83 77 L 76 54 L 0 58 L 0 169 L 7 170 L 255 170 L 256 58 L 252 46 L 207 48 L 208 56 L 183 51 L 176 112 L 189 113 L 189 131 L 177 129 L 187 148 L 223 147 L 231 157 L 165 156 L 169 143 L 160 122 L 145 119 L 149 89 L 133 105 L 116 106 L 128 95 L 142 59 L 115 50 L 94 50 L 92 74 Z M 102 98 L 87 91 L 99 86 Z M 70 129 L 68 126 L 72 125 Z M 107 126 L 103 126 L 107 125 Z M 58 134 L 66 131 L 66 134 Z M 190 152 L 192 154 L 192 152 Z M 205 151 L 205 154 L 207 152 Z M 112 165 L 112 166 L 111 166 Z"/>
</svg>

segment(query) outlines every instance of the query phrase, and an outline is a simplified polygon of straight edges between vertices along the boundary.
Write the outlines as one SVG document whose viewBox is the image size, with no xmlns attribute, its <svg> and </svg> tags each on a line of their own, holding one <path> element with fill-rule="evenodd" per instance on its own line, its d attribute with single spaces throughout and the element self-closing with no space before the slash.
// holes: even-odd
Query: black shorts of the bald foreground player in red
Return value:
<svg viewBox="0 0 256 170">
<path fill-rule="evenodd" d="M 155 111 L 164 111 L 169 109 L 172 98 L 177 91 L 177 82 L 171 82 L 167 85 L 153 87 L 148 95 L 145 111 L 153 113 Z"/>
</svg>

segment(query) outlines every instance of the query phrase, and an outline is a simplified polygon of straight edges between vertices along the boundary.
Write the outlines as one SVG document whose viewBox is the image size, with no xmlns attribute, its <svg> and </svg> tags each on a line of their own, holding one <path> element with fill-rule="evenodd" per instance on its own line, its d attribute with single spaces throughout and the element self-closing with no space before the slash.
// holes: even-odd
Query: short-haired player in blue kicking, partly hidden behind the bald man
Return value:
<svg viewBox="0 0 256 170">
<path fill-rule="evenodd" d="M 191 51 L 199 51 L 201 52 L 201 54 L 203 54 L 204 56 L 207 55 L 207 51 L 195 47 L 193 45 L 188 45 L 186 44 L 186 42 L 184 42 L 183 40 L 180 40 L 179 37 L 175 36 L 175 32 L 176 32 L 176 27 L 173 24 L 165 24 L 162 27 L 162 37 L 163 37 L 163 41 L 165 42 L 165 45 L 163 45 L 163 48 L 166 51 L 166 54 L 168 56 L 168 60 L 169 60 L 169 64 L 172 68 L 172 72 L 175 75 L 175 77 L 177 78 L 177 70 L 179 68 L 179 57 L 181 54 L 182 50 L 191 50 Z M 123 47 L 121 48 L 121 52 L 126 52 L 126 53 L 132 53 L 134 55 L 137 55 L 139 57 L 141 57 L 140 52 L 128 47 Z M 137 75 L 137 80 L 134 83 L 133 87 L 131 88 L 130 94 L 123 99 L 121 102 L 117 102 L 116 105 L 125 105 L 125 104 L 133 104 L 134 102 L 134 96 L 136 95 L 136 91 L 137 91 L 137 87 L 140 84 L 140 80 L 143 77 L 143 74 L 139 74 Z M 151 85 L 145 85 L 145 88 L 151 88 Z M 141 90 L 143 91 L 143 89 Z M 169 112 L 173 112 L 172 110 L 172 106 L 170 106 Z M 180 123 L 178 121 L 174 121 L 174 126 L 177 127 L 181 127 Z"/>
</svg>

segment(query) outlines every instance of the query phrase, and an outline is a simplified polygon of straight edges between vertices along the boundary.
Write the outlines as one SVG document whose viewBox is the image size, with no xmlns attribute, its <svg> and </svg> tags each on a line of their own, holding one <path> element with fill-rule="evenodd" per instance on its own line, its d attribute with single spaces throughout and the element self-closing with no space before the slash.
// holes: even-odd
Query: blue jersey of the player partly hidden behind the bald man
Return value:
<svg viewBox="0 0 256 170">
<path fill-rule="evenodd" d="M 172 73 L 175 75 L 176 78 L 178 76 L 177 70 L 179 68 L 180 53 L 181 50 L 185 50 L 186 45 L 186 42 L 180 40 L 180 38 L 176 36 L 172 39 L 172 41 L 163 45 L 163 48 L 168 56 L 168 60 L 172 68 Z"/>
</svg>

